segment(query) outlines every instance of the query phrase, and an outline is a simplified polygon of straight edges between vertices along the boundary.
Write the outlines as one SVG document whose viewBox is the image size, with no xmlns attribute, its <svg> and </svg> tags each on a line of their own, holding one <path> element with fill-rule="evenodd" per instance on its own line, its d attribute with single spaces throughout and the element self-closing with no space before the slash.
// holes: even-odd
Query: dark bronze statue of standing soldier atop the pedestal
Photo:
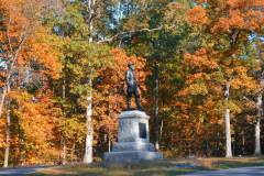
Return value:
<svg viewBox="0 0 264 176">
<path fill-rule="evenodd" d="M 130 62 L 128 66 L 130 68 L 125 72 L 125 81 L 127 81 L 127 85 L 128 85 L 128 89 L 127 89 L 127 92 L 128 92 L 128 109 L 131 109 L 131 97 L 132 97 L 132 94 L 134 94 L 135 102 L 136 102 L 136 106 L 138 106 L 136 109 L 144 110 L 140 106 L 140 94 L 136 89 L 136 86 L 139 86 L 139 82 L 135 81 L 134 64 Z"/>
</svg>

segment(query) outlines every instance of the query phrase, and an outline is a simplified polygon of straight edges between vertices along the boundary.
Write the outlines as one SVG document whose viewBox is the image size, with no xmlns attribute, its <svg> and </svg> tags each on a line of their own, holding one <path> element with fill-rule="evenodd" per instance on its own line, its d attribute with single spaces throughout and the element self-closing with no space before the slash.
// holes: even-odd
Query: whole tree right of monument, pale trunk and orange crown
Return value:
<svg viewBox="0 0 264 176">
<path fill-rule="evenodd" d="M 219 51 L 223 102 L 226 105 L 226 156 L 232 156 L 230 134 L 230 88 L 240 85 L 235 76 L 241 70 L 240 46 L 249 43 L 249 34 L 263 32 L 263 2 L 261 1 L 196 1 L 197 6 L 186 16 L 189 24 L 202 28 L 212 40 L 211 47 Z M 215 46 L 213 46 L 215 45 Z M 241 63 L 241 64 L 239 64 Z M 246 78 L 246 77 L 244 77 Z M 237 79 L 239 80 L 239 79 Z"/>
</svg>

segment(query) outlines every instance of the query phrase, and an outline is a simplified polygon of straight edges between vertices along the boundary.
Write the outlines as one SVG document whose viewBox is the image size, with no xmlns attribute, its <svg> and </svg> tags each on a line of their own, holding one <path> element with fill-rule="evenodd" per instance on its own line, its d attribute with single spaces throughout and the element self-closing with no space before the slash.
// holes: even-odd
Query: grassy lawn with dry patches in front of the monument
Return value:
<svg viewBox="0 0 264 176">
<path fill-rule="evenodd" d="M 204 165 L 202 169 L 177 169 L 169 168 L 170 164 L 175 163 L 193 163 Z M 246 156 L 246 157 L 212 157 L 200 160 L 185 160 L 185 158 L 165 158 L 161 162 L 152 162 L 145 164 L 73 164 L 68 166 L 59 166 L 38 170 L 28 176 L 74 176 L 74 175 L 106 175 L 106 176 L 123 176 L 123 175 L 180 175 L 187 173 L 196 173 L 202 170 L 216 170 L 227 168 L 238 168 L 248 166 L 264 165 L 264 156 Z"/>
</svg>

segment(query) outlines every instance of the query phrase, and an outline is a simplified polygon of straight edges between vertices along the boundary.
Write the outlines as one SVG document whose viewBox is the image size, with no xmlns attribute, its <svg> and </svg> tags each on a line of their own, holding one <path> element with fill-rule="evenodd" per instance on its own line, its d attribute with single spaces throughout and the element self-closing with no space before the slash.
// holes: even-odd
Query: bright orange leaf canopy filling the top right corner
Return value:
<svg viewBox="0 0 264 176">
<path fill-rule="evenodd" d="M 264 12 L 262 0 L 199 0 L 186 15 L 188 24 L 210 26 L 211 33 L 231 33 L 232 30 L 250 30 L 256 32 L 263 26 Z M 205 4 L 204 4 L 205 3 Z M 204 8 L 206 7 L 206 8 Z M 217 19 L 213 15 L 219 14 Z M 261 32 L 257 32 L 261 34 Z"/>
</svg>

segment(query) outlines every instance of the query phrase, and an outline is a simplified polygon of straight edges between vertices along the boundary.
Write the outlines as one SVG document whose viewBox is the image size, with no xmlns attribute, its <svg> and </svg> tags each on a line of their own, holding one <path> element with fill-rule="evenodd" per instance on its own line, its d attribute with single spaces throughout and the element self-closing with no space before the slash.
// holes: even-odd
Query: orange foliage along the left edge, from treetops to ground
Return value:
<svg viewBox="0 0 264 176">
<path fill-rule="evenodd" d="M 56 155 L 51 152 L 51 141 L 57 110 L 53 107 L 47 78 L 57 79 L 62 65 L 51 47 L 51 30 L 42 21 L 46 18 L 44 11 L 51 12 L 52 7 L 47 0 L 1 0 L 0 9 L 0 88 L 3 90 L 8 84 L 11 88 L 6 97 L 1 95 L 1 99 L 8 98 L 12 102 L 10 146 L 15 151 L 9 158 L 13 163 L 41 164 L 50 157 L 46 153 Z M 4 120 L 6 111 L 2 113 Z M 6 138 L 3 119 L 1 135 Z M 2 140 L 0 145 L 2 152 Z"/>
</svg>

